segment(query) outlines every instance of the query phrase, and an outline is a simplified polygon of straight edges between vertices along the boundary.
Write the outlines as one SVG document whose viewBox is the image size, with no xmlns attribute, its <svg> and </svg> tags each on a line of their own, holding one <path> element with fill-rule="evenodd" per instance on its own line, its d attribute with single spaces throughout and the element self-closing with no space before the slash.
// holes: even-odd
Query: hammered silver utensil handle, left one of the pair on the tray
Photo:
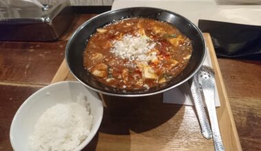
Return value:
<svg viewBox="0 0 261 151">
<path fill-rule="evenodd" d="M 190 91 L 194 100 L 194 106 L 196 108 L 196 114 L 198 115 L 198 121 L 201 126 L 201 134 L 206 139 L 212 138 L 212 131 L 209 126 L 209 121 L 207 119 L 207 114 L 205 112 L 204 103 L 202 100 L 201 90 L 198 83 L 198 73 L 196 73 L 192 80 L 190 80 Z"/>
</svg>

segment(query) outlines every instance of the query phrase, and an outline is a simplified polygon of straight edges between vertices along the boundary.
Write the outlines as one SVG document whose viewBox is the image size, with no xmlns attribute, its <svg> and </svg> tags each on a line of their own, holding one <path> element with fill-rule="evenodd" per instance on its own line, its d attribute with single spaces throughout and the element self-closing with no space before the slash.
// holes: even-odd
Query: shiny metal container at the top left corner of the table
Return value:
<svg viewBox="0 0 261 151">
<path fill-rule="evenodd" d="M 22 7 L 0 1 L 0 40 L 52 41 L 58 39 L 71 23 L 73 12 L 69 1 Z"/>
</svg>

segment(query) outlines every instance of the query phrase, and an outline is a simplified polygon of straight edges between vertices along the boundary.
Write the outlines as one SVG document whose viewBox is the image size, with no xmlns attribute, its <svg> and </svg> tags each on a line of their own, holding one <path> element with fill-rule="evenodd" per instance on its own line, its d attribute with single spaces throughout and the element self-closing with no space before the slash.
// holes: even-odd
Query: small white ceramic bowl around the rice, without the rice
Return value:
<svg viewBox="0 0 261 151">
<path fill-rule="evenodd" d="M 36 91 L 23 102 L 14 115 L 10 128 L 10 141 L 15 151 L 28 151 L 27 139 L 34 130 L 34 124 L 43 112 L 57 103 L 72 102 L 82 92 L 87 95 L 93 115 L 93 126 L 87 139 L 76 150 L 82 150 L 93 139 L 100 127 L 103 115 L 102 101 L 97 93 L 87 89 L 80 82 L 58 82 Z"/>
</svg>

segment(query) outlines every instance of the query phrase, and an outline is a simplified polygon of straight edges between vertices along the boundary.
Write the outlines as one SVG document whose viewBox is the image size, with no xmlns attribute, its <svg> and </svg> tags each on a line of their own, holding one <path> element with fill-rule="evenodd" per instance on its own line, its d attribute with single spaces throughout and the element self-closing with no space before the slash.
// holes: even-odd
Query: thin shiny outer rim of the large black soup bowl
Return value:
<svg viewBox="0 0 261 151">
<path fill-rule="evenodd" d="M 129 10 L 129 9 L 155 9 L 155 10 L 161 10 L 164 12 L 168 12 L 170 14 L 174 14 L 176 16 L 181 17 L 182 19 L 184 19 L 185 21 L 188 21 L 188 23 L 190 23 L 190 25 L 192 25 L 192 27 L 194 27 L 194 29 L 198 32 L 201 40 L 203 41 L 203 56 L 201 57 L 201 62 L 199 62 L 198 67 L 196 67 L 196 69 L 194 70 L 194 72 L 192 72 L 187 78 L 181 80 L 180 82 L 178 82 L 177 84 L 173 84 L 172 86 L 169 86 L 165 89 L 159 90 L 159 91 L 154 91 L 154 92 L 150 92 L 150 93 L 135 93 L 135 94 L 123 94 L 123 93 L 109 93 L 106 91 L 102 91 L 100 89 L 96 89 L 94 86 L 90 86 L 89 84 L 86 84 L 85 82 L 83 82 L 82 80 L 80 80 L 80 78 L 78 78 L 75 73 L 73 73 L 73 71 L 71 70 L 70 66 L 69 66 L 69 61 L 68 61 L 68 51 L 69 51 L 69 47 L 71 45 L 71 43 L 73 43 L 73 38 L 76 37 L 76 35 L 78 34 L 78 32 L 80 32 L 80 30 L 82 30 L 82 28 L 87 25 L 88 23 L 91 23 L 91 21 L 97 19 L 100 16 L 103 16 L 104 14 L 109 14 L 109 13 L 113 13 L 113 12 L 118 12 L 118 11 L 124 11 L 124 10 Z M 73 34 L 71 35 L 71 37 L 68 40 L 68 43 L 66 45 L 65 48 L 65 60 L 66 60 L 66 65 L 69 69 L 69 71 L 71 72 L 71 74 L 73 75 L 74 78 L 76 78 L 76 80 L 78 80 L 78 82 L 84 84 L 84 86 L 87 86 L 89 89 L 92 89 L 93 91 L 96 91 L 98 93 L 102 93 L 104 95 L 111 95 L 111 96 L 118 96 L 118 97 L 144 97 L 144 96 L 149 96 L 149 95 L 156 95 L 159 93 L 163 93 L 165 91 L 169 91 L 170 89 L 174 89 L 177 86 L 180 86 L 181 84 L 187 82 L 188 80 L 190 80 L 190 78 L 192 78 L 194 76 L 195 73 L 198 72 L 198 70 L 201 68 L 201 66 L 203 65 L 203 62 L 205 60 L 205 57 L 207 55 L 206 53 L 207 51 L 207 47 L 205 44 L 205 39 L 203 37 L 203 33 L 201 32 L 201 30 L 199 30 L 198 27 L 196 27 L 196 25 L 194 25 L 194 23 L 192 23 L 192 21 L 188 20 L 187 18 L 185 18 L 184 16 L 181 16 L 180 14 L 177 14 L 176 12 L 172 12 L 170 10 L 165 10 L 165 9 L 161 9 L 161 8 L 152 8 L 152 7 L 131 7 L 131 8 L 121 8 L 121 9 L 117 9 L 117 10 L 110 10 L 107 12 L 103 12 L 102 14 L 98 14 L 97 16 L 92 17 L 91 19 L 85 21 L 84 23 L 82 23 L 75 32 L 73 32 Z"/>
</svg>

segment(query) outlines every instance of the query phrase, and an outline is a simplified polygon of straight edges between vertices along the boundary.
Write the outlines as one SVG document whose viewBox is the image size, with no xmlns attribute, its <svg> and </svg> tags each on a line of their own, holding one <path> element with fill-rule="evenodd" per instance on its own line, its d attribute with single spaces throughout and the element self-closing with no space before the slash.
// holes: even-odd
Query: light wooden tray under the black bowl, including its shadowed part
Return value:
<svg viewBox="0 0 261 151">
<path fill-rule="evenodd" d="M 220 98 L 217 108 L 220 132 L 226 150 L 242 150 L 231 107 L 209 34 L 204 34 Z M 65 60 L 52 82 L 76 80 Z M 86 150 L 214 150 L 204 139 L 192 106 L 163 104 L 162 94 L 125 98 L 102 95 L 106 104 L 100 130 Z"/>
</svg>

